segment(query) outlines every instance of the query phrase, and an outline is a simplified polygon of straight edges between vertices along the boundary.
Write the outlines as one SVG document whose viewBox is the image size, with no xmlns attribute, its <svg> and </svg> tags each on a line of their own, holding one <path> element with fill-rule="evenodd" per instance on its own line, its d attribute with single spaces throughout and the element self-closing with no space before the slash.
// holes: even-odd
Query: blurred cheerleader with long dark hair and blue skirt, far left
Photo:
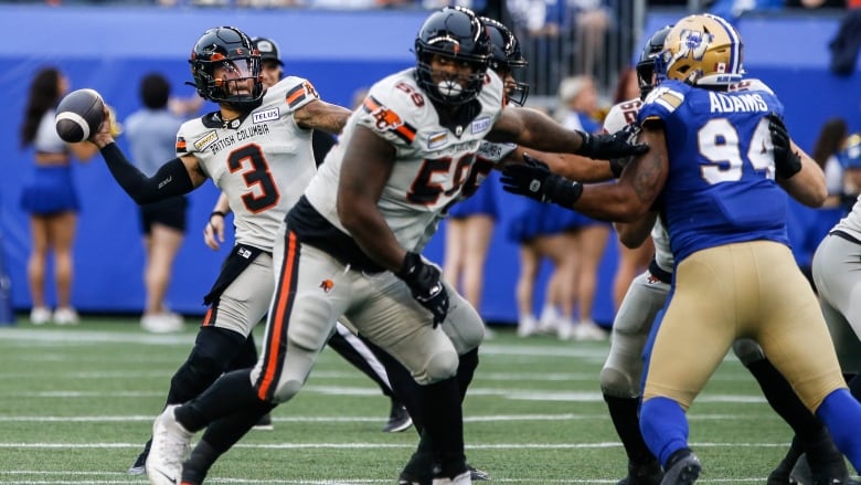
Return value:
<svg viewBox="0 0 861 485">
<path fill-rule="evenodd" d="M 35 170 L 23 184 L 21 208 L 30 213 L 31 252 L 26 277 L 33 307 L 30 321 L 42 325 L 74 325 L 77 312 L 72 306 L 73 254 L 81 203 L 72 175 L 72 160 L 89 160 L 98 149 L 83 141 L 66 144 L 56 134 L 56 105 L 68 92 L 68 80 L 56 67 L 39 71 L 30 92 L 21 123 L 21 148 L 33 147 Z M 53 254 L 56 310 L 45 298 L 45 273 Z"/>
</svg>

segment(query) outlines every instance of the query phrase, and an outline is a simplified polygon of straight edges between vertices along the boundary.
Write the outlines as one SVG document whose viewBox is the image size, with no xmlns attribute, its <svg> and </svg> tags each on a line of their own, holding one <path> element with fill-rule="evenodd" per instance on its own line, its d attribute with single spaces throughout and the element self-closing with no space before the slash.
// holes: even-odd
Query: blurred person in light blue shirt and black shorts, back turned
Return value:
<svg viewBox="0 0 861 485">
<path fill-rule="evenodd" d="M 184 118 L 168 108 L 170 83 L 161 74 L 144 76 L 138 94 L 144 107 L 126 119 L 126 135 L 135 164 L 147 177 L 152 177 L 164 160 L 176 157 L 177 133 Z M 174 103 L 176 109 L 181 106 Z M 182 330 L 182 316 L 170 312 L 164 298 L 173 261 L 185 238 L 188 204 L 187 197 L 178 196 L 139 207 L 146 256 L 146 301 L 140 326 L 147 331 Z"/>
</svg>

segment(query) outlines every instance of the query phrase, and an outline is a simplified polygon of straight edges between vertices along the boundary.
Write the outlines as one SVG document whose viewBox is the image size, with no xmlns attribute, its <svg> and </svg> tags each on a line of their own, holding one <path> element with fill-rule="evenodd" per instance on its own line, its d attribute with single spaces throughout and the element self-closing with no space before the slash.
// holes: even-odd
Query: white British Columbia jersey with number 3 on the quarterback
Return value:
<svg viewBox="0 0 861 485">
<path fill-rule="evenodd" d="M 293 113 L 318 98 L 308 81 L 285 77 L 242 118 L 225 123 L 216 112 L 180 127 L 177 154 L 194 155 L 227 196 L 236 243 L 272 252 L 285 214 L 317 171 L 312 130 Z"/>
</svg>

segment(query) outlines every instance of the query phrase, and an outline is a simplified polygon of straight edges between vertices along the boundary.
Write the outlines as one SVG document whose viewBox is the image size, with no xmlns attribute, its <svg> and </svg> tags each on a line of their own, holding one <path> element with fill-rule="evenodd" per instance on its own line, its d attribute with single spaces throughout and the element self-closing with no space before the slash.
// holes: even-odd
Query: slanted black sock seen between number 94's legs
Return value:
<svg viewBox="0 0 861 485">
<path fill-rule="evenodd" d="M 822 423 L 801 403 L 789 382 L 768 359 L 751 362 L 747 369 L 756 378 L 772 409 L 793 428 L 801 441 L 809 443 L 821 437 L 825 430 Z"/>
</svg>

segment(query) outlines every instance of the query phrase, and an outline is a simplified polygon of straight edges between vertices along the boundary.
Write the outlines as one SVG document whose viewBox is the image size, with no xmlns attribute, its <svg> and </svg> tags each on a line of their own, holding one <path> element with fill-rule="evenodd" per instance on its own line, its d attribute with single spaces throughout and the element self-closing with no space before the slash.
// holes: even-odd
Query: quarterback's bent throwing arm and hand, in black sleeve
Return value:
<svg viewBox="0 0 861 485">
<path fill-rule="evenodd" d="M 135 202 L 144 204 L 182 196 L 206 180 L 200 170 L 198 159 L 191 155 L 168 161 L 152 177 L 144 175 L 126 159 L 126 155 L 114 143 L 114 137 L 110 135 L 110 117 L 107 108 L 105 109 L 104 122 L 98 131 L 89 137 L 89 141 L 99 148 L 110 175 Z"/>
</svg>

